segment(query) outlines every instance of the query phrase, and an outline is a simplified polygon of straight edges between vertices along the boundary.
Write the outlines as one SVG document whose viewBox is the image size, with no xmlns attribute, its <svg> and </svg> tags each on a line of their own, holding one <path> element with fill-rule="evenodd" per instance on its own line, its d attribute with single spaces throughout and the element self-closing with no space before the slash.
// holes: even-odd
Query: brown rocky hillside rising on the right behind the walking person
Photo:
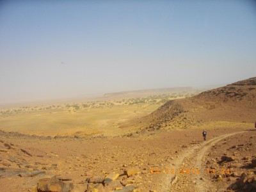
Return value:
<svg viewBox="0 0 256 192">
<path fill-rule="evenodd" d="M 219 126 L 223 122 L 246 124 L 255 122 L 255 109 L 256 77 L 253 77 L 195 97 L 170 100 L 141 118 L 137 125 L 143 130 L 153 131 L 205 127 L 214 122 Z"/>
</svg>

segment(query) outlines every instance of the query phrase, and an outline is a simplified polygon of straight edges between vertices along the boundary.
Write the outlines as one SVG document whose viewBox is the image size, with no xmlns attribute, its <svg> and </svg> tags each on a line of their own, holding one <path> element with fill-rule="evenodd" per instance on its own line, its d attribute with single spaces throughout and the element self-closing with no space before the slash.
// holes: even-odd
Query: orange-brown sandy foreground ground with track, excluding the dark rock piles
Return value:
<svg viewBox="0 0 256 192">
<path fill-rule="evenodd" d="M 72 182 L 75 186 L 86 186 L 86 179 L 112 172 L 122 175 L 125 169 L 136 167 L 140 172 L 129 179 L 141 191 L 216 191 L 220 184 L 209 178 L 205 162 L 211 157 L 207 156 L 205 159 L 205 154 L 216 145 L 219 152 L 225 153 L 228 146 L 220 145 L 221 142 L 228 138 L 232 145 L 232 142 L 236 143 L 236 137 L 241 138 L 241 135 L 245 141 L 255 138 L 256 132 L 210 129 L 208 141 L 202 140 L 202 130 L 199 129 L 149 132 L 133 134 L 127 138 L 92 139 L 45 138 L 1 132 L 0 164 L 5 169 L 1 170 L 0 186 L 4 191 L 28 191 L 35 188 L 40 175 L 20 177 L 15 175 L 15 170 L 43 170 L 68 178 L 67 182 Z M 21 148 L 31 156 L 22 152 Z M 250 156 L 252 157 L 252 152 Z M 184 173 L 184 170 L 193 168 L 198 168 L 200 173 Z M 172 174 L 172 169 L 176 174 Z M 172 184 L 175 175 L 178 179 Z M 124 175 L 118 177 L 118 180 L 123 179 Z M 221 183 L 225 184 L 221 184 L 223 190 L 226 189 L 227 180 Z"/>
</svg>

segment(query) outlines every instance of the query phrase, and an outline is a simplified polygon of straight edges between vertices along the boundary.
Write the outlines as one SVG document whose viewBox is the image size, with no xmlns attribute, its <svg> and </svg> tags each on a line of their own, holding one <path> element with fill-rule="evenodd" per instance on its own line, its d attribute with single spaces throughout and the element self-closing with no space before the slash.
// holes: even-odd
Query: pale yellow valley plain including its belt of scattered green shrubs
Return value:
<svg viewBox="0 0 256 192">
<path fill-rule="evenodd" d="M 4 127 L 5 130 L 20 131 L 21 129 L 33 130 L 36 127 L 36 132 L 47 134 L 47 130 L 59 133 L 65 129 L 75 131 L 83 127 L 83 129 L 90 128 L 92 131 L 97 130 L 95 132 L 99 132 L 99 129 L 106 130 L 106 128 L 115 129 L 116 132 L 120 131 L 116 129 L 120 120 L 140 118 L 152 113 L 168 100 L 190 97 L 192 94 L 196 92 L 172 92 L 131 99 L 0 108 L 0 129 Z M 108 122 L 99 123 L 104 120 Z"/>
</svg>

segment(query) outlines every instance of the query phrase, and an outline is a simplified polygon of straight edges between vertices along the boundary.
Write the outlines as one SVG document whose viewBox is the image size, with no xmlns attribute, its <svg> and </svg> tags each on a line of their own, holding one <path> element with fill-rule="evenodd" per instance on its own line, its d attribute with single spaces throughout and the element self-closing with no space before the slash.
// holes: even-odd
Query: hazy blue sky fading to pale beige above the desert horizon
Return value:
<svg viewBox="0 0 256 192">
<path fill-rule="evenodd" d="M 0 1 L 0 104 L 256 76 L 255 1 Z"/>
</svg>

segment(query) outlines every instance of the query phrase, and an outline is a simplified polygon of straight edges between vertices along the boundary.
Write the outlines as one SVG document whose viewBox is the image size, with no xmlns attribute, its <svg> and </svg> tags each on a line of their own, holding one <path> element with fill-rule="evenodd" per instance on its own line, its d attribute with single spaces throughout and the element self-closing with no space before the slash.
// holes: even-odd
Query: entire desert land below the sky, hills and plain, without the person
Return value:
<svg viewBox="0 0 256 192">
<path fill-rule="evenodd" d="M 1 106 L 0 191 L 255 191 L 256 78 L 201 92 Z"/>
</svg>

